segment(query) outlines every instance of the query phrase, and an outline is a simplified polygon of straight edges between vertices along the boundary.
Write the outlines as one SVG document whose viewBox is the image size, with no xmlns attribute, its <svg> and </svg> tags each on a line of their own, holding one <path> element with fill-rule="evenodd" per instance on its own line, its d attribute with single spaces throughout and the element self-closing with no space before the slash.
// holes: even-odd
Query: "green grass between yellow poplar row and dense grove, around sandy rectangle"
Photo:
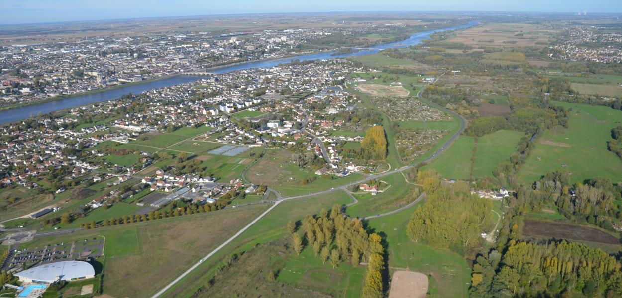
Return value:
<svg viewBox="0 0 622 298">
<path fill-rule="evenodd" d="M 471 269 L 459 255 L 439 248 L 412 242 L 406 226 L 415 207 L 368 221 L 369 228 L 384 234 L 388 243 L 389 267 L 406 268 L 427 274 L 428 297 L 468 297 Z"/>
</svg>

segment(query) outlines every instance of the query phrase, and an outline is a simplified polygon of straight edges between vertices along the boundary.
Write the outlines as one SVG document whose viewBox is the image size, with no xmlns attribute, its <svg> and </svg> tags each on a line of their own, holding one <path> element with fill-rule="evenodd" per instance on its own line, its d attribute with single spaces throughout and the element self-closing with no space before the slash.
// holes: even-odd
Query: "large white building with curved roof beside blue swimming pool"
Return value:
<svg viewBox="0 0 622 298">
<path fill-rule="evenodd" d="M 22 282 L 51 284 L 57 281 L 75 281 L 95 277 L 95 269 L 83 261 L 61 261 L 43 264 L 14 274 Z"/>
</svg>

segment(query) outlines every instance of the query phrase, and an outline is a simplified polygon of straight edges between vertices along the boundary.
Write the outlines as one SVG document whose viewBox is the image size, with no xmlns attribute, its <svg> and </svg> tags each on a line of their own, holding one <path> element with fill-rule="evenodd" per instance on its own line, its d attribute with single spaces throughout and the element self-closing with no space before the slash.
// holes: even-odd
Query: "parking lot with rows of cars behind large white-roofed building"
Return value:
<svg viewBox="0 0 622 298">
<path fill-rule="evenodd" d="M 9 252 L 2 269 L 22 268 L 24 264 L 30 266 L 57 261 L 97 258 L 102 255 L 103 248 L 104 240 L 102 238 L 89 238 L 72 243 L 51 243 L 34 248 L 19 248 L 18 246 Z"/>
</svg>

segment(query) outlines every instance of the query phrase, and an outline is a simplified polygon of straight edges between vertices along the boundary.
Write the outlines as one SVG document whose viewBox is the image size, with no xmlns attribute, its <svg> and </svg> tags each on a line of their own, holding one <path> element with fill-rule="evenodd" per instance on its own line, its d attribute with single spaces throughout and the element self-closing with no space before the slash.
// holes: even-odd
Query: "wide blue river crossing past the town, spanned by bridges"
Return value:
<svg viewBox="0 0 622 298">
<path fill-rule="evenodd" d="M 408 47 L 411 45 L 419 45 L 420 43 L 423 42 L 424 39 L 429 38 L 430 34 L 434 34 L 436 32 L 448 31 L 448 30 L 464 29 L 464 28 L 468 28 L 476 24 L 478 23 L 470 22 L 465 25 L 457 25 L 453 27 L 418 32 L 418 33 L 411 35 L 411 37 L 405 40 L 401 40 L 399 42 L 375 45 L 373 47 L 356 50 L 353 53 L 333 55 L 336 52 L 336 51 L 333 51 L 333 52 L 313 53 L 313 54 L 307 54 L 307 55 L 289 56 L 287 58 L 279 58 L 279 59 L 272 59 L 272 60 L 249 61 L 249 62 L 244 62 L 244 63 L 238 63 L 236 65 L 222 66 L 222 67 L 210 70 L 210 72 L 222 74 L 222 73 L 229 73 L 231 71 L 236 71 L 236 70 L 246 70 L 249 68 L 271 67 L 271 66 L 279 65 L 280 63 L 287 63 L 289 61 L 296 60 L 296 59 L 298 60 L 322 60 L 322 59 L 330 59 L 330 58 L 343 58 L 343 57 L 350 57 L 350 56 L 369 55 L 369 54 L 378 53 L 381 50 L 384 50 L 386 48 L 403 48 L 403 47 Z M 29 106 L 17 107 L 15 109 L 0 111 L 0 124 L 6 124 L 9 122 L 27 119 L 31 115 L 37 115 L 39 113 L 48 113 L 48 112 L 59 111 L 63 109 L 70 109 L 72 107 L 82 106 L 82 105 L 90 104 L 93 102 L 109 101 L 112 99 L 118 99 L 119 97 L 124 96 L 129 93 L 140 94 L 144 91 L 150 91 L 150 90 L 159 89 L 159 88 L 166 88 L 166 87 L 175 86 L 178 84 L 190 83 L 193 81 L 198 81 L 199 79 L 202 79 L 202 77 L 181 76 L 181 75 L 172 76 L 170 78 L 150 81 L 148 83 L 134 84 L 134 85 L 127 86 L 127 87 L 111 89 L 108 91 L 101 91 L 99 93 L 67 97 L 65 99 L 58 99 L 57 101 L 49 101 L 49 102 L 43 102 L 40 104 L 32 104 Z"/>
</svg>

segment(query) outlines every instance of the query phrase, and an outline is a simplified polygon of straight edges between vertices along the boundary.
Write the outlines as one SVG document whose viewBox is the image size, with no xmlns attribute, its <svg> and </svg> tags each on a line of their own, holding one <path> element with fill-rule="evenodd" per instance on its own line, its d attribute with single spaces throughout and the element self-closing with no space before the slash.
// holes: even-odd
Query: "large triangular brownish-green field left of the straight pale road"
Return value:
<svg viewBox="0 0 622 298">
<path fill-rule="evenodd" d="M 104 294 L 148 297 L 265 208 L 266 205 L 256 205 L 83 230 L 58 237 L 36 238 L 28 246 L 105 237 Z"/>
</svg>

